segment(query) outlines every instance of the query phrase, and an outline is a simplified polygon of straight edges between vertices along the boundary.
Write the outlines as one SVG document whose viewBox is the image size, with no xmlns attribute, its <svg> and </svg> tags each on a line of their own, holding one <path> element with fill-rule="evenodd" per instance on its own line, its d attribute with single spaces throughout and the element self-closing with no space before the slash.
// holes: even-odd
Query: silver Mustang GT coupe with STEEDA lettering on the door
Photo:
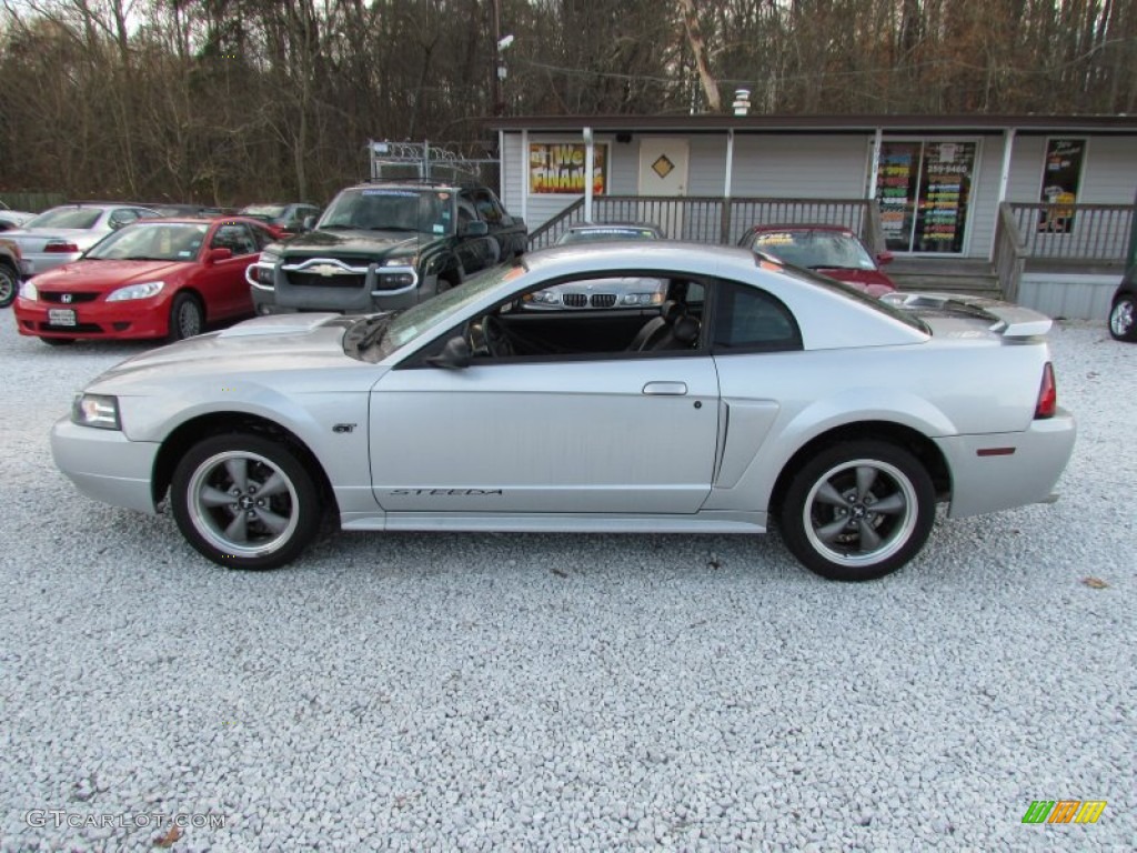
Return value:
<svg viewBox="0 0 1137 853">
<path fill-rule="evenodd" d="M 659 306 L 526 310 L 563 283 Z M 84 494 L 157 512 L 223 565 L 347 530 L 755 533 L 868 580 L 961 517 L 1053 499 L 1073 447 L 1051 321 L 870 299 L 746 249 L 525 255 L 401 313 L 263 317 L 103 373 L 56 424 Z"/>
</svg>

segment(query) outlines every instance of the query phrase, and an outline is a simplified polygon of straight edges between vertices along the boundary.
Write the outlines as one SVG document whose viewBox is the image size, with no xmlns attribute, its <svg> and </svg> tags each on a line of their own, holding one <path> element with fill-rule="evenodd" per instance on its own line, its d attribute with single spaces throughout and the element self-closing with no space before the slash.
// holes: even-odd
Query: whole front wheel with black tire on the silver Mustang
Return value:
<svg viewBox="0 0 1137 853">
<path fill-rule="evenodd" d="M 190 448 L 174 470 L 171 505 L 198 553 L 235 569 L 290 563 L 316 536 L 323 514 L 299 456 L 283 442 L 243 433 Z"/>
</svg>

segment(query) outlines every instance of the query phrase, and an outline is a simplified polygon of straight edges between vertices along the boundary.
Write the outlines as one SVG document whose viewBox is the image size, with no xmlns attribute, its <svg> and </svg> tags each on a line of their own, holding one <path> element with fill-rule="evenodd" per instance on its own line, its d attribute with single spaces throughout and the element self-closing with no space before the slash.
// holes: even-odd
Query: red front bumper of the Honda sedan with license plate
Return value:
<svg viewBox="0 0 1137 853">
<path fill-rule="evenodd" d="M 14 305 L 16 328 L 34 338 L 163 338 L 169 332 L 169 310 L 157 298 L 122 303 L 63 305 L 19 297 Z M 74 312 L 75 324 L 52 322 L 52 310 Z"/>
</svg>

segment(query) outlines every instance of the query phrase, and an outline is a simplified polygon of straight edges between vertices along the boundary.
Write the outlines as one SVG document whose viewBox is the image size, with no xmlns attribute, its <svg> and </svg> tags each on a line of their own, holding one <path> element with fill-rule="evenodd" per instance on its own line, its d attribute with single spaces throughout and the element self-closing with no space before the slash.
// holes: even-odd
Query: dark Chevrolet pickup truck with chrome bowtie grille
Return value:
<svg viewBox="0 0 1137 853">
<path fill-rule="evenodd" d="M 266 246 L 246 278 L 258 314 L 406 308 L 528 239 L 481 184 L 373 181 L 340 192 L 312 231 Z"/>
</svg>

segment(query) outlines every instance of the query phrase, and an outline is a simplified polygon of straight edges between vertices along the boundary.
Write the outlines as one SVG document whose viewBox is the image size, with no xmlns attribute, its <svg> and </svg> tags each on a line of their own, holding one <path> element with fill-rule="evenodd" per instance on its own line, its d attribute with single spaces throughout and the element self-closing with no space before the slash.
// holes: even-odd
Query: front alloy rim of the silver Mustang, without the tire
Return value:
<svg viewBox="0 0 1137 853">
<path fill-rule="evenodd" d="M 225 554 L 272 554 L 299 524 L 296 486 L 272 461 L 250 450 L 225 450 L 205 459 L 186 490 L 193 528 Z"/>
</svg>

